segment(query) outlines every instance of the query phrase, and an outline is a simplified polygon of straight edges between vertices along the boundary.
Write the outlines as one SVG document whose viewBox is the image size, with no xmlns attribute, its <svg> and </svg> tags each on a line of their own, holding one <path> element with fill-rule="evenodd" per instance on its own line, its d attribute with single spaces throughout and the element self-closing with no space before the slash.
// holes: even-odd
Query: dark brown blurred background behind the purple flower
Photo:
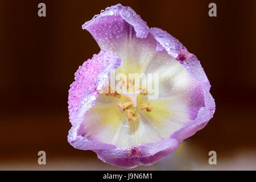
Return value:
<svg viewBox="0 0 256 182">
<path fill-rule="evenodd" d="M 38 4 L 46 3 L 46 17 Z M 217 5 L 217 17 L 208 5 Z M 67 141 L 68 89 L 100 48 L 81 26 L 108 6 L 131 6 L 194 53 L 210 80 L 216 113 L 174 154 L 141 170 L 256 169 L 256 1 L 0 0 L 0 169 L 122 170 Z M 39 166 L 38 151 L 47 165 Z M 209 165 L 208 152 L 217 152 Z"/>
</svg>

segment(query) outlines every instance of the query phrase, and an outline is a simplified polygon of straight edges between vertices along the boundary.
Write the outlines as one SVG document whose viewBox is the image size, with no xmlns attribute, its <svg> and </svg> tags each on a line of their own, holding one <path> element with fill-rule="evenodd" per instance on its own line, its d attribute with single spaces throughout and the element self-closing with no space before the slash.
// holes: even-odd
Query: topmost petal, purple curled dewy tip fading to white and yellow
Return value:
<svg viewBox="0 0 256 182">
<path fill-rule="evenodd" d="M 156 40 L 149 28 L 130 7 L 115 5 L 96 15 L 83 26 L 101 49 L 109 49 L 122 59 L 119 72 L 127 68 L 142 72 L 156 51 Z M 129 71 L 130 71 L 129 70 Z"/>
</svg>

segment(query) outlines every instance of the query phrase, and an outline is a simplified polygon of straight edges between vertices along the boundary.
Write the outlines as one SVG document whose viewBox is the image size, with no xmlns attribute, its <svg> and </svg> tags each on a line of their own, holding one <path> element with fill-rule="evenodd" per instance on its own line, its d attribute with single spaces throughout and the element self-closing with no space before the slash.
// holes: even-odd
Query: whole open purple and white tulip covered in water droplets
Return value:
<svg viewBox="0 0 256 182">
<path fill-rule="evenodd" d="M 119 4 L 82 28 L 101 51 L 79 67 L 69 89 L 73 147 L 125 168 L 150 165 L 213 117 L 214 99 L 199 60 L 166 31 L 148 28 L 134 10 Z M 119 79 L 125 90 L 110 84 L 113 70 L 126 76 Z M 130 73 L 157 75 L 157 84 L 147 77 L 157 86 L 157 97 L 150 99 L 150 89 L 135 84 Z"/>
</svg>

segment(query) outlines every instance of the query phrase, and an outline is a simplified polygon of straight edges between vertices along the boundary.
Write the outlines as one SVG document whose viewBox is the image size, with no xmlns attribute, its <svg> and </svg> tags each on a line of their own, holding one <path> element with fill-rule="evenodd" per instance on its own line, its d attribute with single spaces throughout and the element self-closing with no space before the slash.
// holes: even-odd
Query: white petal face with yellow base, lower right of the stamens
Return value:
<svg viewBox="0 0 256 182">
<path fill-rule="evenodd" d="M 146 119 L 145 123 L 150 123 L 152 128 L 158 132 L 160 139 L 169 138 L 175 131 L 192 122 L 201 108 L 197 109 L 184 98 L 176 96 L 151 101 L 150 104 L 153 107 L 150 113 L 140 111 L 139 114 L 141 114 L 141 118 Z M 155 138 L 152 142 L 158 142 L 157 139 Z"/>
</svg>

